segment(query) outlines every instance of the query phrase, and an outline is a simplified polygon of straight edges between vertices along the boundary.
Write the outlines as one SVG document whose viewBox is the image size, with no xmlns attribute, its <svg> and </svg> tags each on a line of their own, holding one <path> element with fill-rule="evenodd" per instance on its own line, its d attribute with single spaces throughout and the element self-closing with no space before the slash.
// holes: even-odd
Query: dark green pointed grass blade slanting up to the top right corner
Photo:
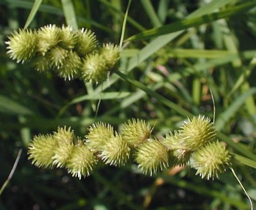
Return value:
<svg viewBox="0 0 256 210">
<path fill-rule="evenodd" d="M 175 31 L 186 30 L 188 28 L 200 26 L 202 24 L 207 24 L 209 22 L 213 22 L 221 18 L 228 18 L 230 16 L 240 14 L 241 12 L 251 9 L 251 7 L 255 5 L 255 2 L 245 3 L 243 5 L 239 5 L 231 9 L 226 9 L 225 11 L 213 12 L 211 14 L 203 14 L 202 16 L 196 18 L 188 18 L 185 20 L 181 20 L 179 22 L 175 22 L 174 24 L 168 24 L 159 28 L 153 28 L 151 30 L 143 31 L 142 33 L 129 37 L 129 39 L 126 39 L 125 41 L 138 41 L 142 39 L 158 37 L 160 35 L 165 35 L 167 33 L 173 33 Z"/>
</svg>

